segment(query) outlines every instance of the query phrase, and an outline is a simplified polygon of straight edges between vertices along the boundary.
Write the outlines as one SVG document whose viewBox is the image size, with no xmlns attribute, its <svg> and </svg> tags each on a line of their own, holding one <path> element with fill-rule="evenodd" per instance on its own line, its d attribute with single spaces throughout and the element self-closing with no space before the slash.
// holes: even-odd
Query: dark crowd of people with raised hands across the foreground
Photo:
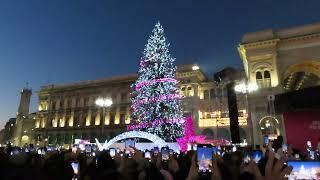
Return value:
<svg viewBox="0 0 320 180">
<path fill-rule="evenodd" d="M 3 180 L 282 180 L 292 171 L 288 160 L 310 160 L 308 153 L 301 154 L 290 145 L 286 150 L 270 142 L 260 147 L 262 158 L 256 162 L 244 160 L 244 152 L 254 148 L 222 147 L 223 153 L 213 153 L 210 173 L 200 174 L 196 150 L 173 152 L 163 160 L 161 151 L 146 157 L 145 152 L 130 147 L 130 154 L 109 150 L 90 153 L 77 149 L 38 151 L 29 148 L 0 149 L 0 179 Z M 26 150 L 28 149 L 28 150 Z M 315 151 L 317 152 L 317 151 Z M 297 155 L 298 154 L 298 155 Z M 318 153 L 316 153 L 318 154 Z M 314 157 L 317 160 L 317 155 Z M 319 159 L 318 159 L 319 160 Z M 319 174 L 320 179 L 320 174 Z"/>
</svg>

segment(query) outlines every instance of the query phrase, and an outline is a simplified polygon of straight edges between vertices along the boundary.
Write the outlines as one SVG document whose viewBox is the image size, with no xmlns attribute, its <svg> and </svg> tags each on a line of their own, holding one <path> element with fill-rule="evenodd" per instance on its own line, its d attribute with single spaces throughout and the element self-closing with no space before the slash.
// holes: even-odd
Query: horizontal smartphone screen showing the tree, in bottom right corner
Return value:
<svg viewBox="0 0 320 180">
<path fill-rule="evenodd" d="M 288 161 L 287 164 L 293 167 L 289 180 L 319 179 L 320 161 Z"/>
</svg>

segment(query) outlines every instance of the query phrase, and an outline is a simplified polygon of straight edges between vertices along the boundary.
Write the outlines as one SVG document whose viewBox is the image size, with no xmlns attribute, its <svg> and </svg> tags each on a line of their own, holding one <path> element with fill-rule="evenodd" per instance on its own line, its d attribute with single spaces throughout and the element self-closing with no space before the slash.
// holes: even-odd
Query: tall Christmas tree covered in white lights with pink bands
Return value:
<svg viewBox="0 0 320 180">
<path fill-rule="evenodd" d="M 166 141 L 182 136 L 181 97 L 161 24 L 152 31 L 143 52 L 138 79 L 132 85 L 133 129 L 147 131 Z M 132 127 L 132 126 L 131 126 Z"/>
</svg>

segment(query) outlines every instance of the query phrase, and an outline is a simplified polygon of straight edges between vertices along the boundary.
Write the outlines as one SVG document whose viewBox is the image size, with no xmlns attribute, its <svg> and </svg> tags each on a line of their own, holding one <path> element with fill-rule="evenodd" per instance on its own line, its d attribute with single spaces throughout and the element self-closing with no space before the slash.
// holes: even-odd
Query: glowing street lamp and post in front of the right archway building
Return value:
<svg viewBox="0 0 320 180">
<path fill-rule="evenodd" d="M 253 138 L 253 124 L 252 124 L 252 119 L 251 119 L 251 112 L 250 112 L 250 104 L 248 100 L 248 94 L 257 91 L 259 89 L 258 85 L 256 83 L 240 83 L 235 85 L 234 90 L 236 92 L 244 93 L 245 97 L 247 99 L 247 106 L 248 106 L 248 120 L 247 120 L 247 127 L 249 131 L 249 139 L 250 143 L 253 145 L 254 144 L 254 138 Z"/>
</svg>

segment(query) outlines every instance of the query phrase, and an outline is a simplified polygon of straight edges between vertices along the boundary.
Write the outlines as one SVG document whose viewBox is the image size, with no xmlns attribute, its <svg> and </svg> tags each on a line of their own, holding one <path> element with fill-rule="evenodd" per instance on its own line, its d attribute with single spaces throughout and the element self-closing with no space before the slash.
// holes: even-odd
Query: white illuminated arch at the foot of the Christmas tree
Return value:
<svg viewBox="0 0 320 180">
<path fill-rule="evenodd" d="M 100 150 L 102 149 L 108 149 L 109 146 L 111 146 L 112 144 L 124 140 L 124 139 L 128 139 L 128 138 L 142 138 L 142 139 L 148 139 L 151 142 L 155 143 L 158 147 L 164 147 L 167 145 L 167 143 L 161 139 L 159 136 L 156 136 L 154 134 L 148 133 L 148 132 L 143 132 L 143 131 L 129 131 L 129 132 L 124 132 L 122 134 L 119 134 L 118 136 L 110 139 L 109 142 L 106 142 L 102 145 L 101 143 L 98 142 L 98 140 L 96 139 L 96 143 L 98 145 L 98 148 Z"/>
</svg>

